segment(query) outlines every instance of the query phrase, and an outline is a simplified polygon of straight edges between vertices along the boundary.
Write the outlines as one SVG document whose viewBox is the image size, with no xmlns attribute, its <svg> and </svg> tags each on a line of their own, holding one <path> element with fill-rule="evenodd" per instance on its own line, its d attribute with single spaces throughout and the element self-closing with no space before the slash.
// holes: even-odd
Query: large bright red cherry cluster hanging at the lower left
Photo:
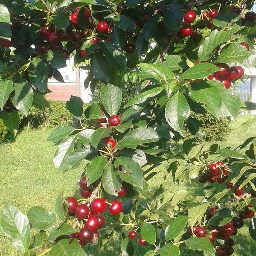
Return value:
<svg viewBox="0 0 256 256">
<path fill-rule="evenodd" d="M 92 193 L 92 188 L 87 186 L 86 178 L 82 177 L 79 181 L 80 192 L 84 198 L 89 198 Z M 123 183 L 119 196 L 125 196 L 128 192 L 127 185 Z M 108 203 L 106 198 L 96 198 L 91 204 L 90 208 L 88 204 L 81 204 L 74 197 L 66 198 L 68 205 L 68 212 L 71 216 L 75 216 L 81 221 L 83 227 L 79 232 L 70 235 L 70 238 L 78 239 L 81 246 L 84 246 L 88 242 L 94 243 L 99 238 L 99 229 L 105 226 L 105 218 L 100 215 L 103 214 L 107 208 L 110 214 L 118 215 L 122 212 L 122 203 L 119 200 L 113 200 L 112 203 Z M 108 207 L 108 204 L 110 205 Z"/>
</svg>

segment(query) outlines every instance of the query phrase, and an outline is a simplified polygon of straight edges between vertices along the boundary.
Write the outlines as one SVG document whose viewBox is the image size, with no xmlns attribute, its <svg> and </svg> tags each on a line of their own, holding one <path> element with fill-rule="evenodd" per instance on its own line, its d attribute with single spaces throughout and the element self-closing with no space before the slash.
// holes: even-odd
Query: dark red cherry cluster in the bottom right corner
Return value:
<svg viewBox="0 0 256 256">
<path fill-rule="evenodd" d="M 239 218 L 233 218 L 229 223 L 225 224 L 221 227 L 211 227 L 211 230 L 207 232 L 205 227 L 201 226 L 193 226 L 189 231 L 197 237 L 207 237 L 211 243 L 215 241 L 215 238 L 225 239 L 224 246 L 217 246 L 216 250 L 219 256 L 230 256 L 234 253 L 233 245 L 234 241 L 230 238 L 230 236 L 235 236 L 238 233 L 238 229 L 244 226 L 243 219 L 253 218 L 254 212 L 252 209 L 252 205 L 247 205 L 243 208 L 242 211 L 239 212 Z M 212 218 L 217 209 L 215 207 L 210 207 L 207 209 L 208 218 Z M 242 217 L 242 218 L 241 218 Z"/>
</svg>

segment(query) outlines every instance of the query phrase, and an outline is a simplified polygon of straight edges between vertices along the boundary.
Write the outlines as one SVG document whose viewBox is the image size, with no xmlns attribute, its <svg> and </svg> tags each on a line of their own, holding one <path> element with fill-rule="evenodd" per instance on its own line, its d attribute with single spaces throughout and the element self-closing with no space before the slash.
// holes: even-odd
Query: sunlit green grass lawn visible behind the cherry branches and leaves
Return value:
<svg viewBox="0 0 256 256">
<path fill-rule="evenodd" d="M 256 136 L 256 129 L 251 127 L 244 134 L 238 134 L 241 123 L 249 116 L 241 116 L 238 121 L 231 124 L 232 133 L 227 139 L 220 142 L 222 146 L 236 146 L 248 137 Z M 82 166 L 78 170 L 69 171 L 65 174 L 54 168 L 52 157 L 56 146 L 46 141 L 50 130 L 29 130 L 23 131 L 15 142 L 0 145 L 0 210 L 4 202 L 17 206 L 26 214 L 32 206 L 39 205 L 49 210 L 54 210 L 55 199 L 62 190 L 64 195 L 73 195 L 78 189 L 78 183 Z M 209 145 L 211 143 L 206 143 Z M 158 171 L 166 169 L 167 164 L 159 167 Z M 150 180 L 150 185 L 157 187 L 163 180 L 163 175 L 156 175 Z M 154 185 L 153 185 L 154 184 Z M 195 193 L 201 191 L 201 185 L 197 183 L 175 185 L 170 188 L 171 192 L 186 189 Z M 104 247 L 85 247 L 88 256 L 122 256 L 119 249 L 118 237 L 111 239 Z M 239 230 L 239 235 L 234 237 L 236 253 L 234 256 L 255 256 L 256 242 L 250 238 L 247 227 Z M 135 255 L 143 256 L 147 248 L 135 244 Z M 0 233 L 0 256 L 20 256 L 3 233 Z M 182 256 L 197 256 L 200 253 L 183 251 Z"/>
</svg>

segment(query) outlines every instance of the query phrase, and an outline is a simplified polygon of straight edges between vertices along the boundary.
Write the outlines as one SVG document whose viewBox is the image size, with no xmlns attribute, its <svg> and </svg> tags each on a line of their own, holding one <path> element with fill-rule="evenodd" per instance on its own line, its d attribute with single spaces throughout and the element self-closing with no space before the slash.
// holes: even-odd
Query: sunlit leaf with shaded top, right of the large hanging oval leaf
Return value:
<svg viewBox="0 0 256 256">
<path fill-rule="evenodd" d="M 204 108 L 219 117 L 222 98 L 219 90 L 207 81 L 194 82 L 190 91 L 196 102 L 203 104 Z"/>
</svg>

